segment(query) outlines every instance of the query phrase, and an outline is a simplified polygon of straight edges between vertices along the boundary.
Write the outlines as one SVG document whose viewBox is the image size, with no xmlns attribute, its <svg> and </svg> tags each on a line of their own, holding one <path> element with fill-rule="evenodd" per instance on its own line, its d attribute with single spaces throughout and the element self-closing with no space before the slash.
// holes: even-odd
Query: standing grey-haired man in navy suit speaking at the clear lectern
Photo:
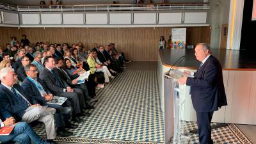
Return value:
<svg viewBox="0 0 256 144">
<path fill-rule="evenodd" d="M 208 44 L 199 43 L 195 48 L 196 60 L 201 65 L 195 72 L 184 71 L 178 83 L 191 86 L 190 93 L 196 111 L 200 144 L 211 144 L 211 120 L 214 111 L 227 106 L 220 62 L 211 55 Z M 191 76 L 191 77 L 188 77 Z M 194 76 L 194 77 L 193 77 Z"/>
</svg>

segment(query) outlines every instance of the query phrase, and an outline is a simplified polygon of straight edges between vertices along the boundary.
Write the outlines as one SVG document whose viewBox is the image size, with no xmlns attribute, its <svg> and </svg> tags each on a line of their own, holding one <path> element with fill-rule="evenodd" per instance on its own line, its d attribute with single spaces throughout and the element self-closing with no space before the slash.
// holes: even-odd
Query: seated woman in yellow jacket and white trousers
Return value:
<svg viewBox="0 0 256 144">
<path fill-rule="evenodd" d="M 92 51 L 88 51 L 88 59 L 87 63 L 90 67 L 90 73 L 94 74 L 95 72 L 103 72 L 105 83 L 109 83 L 109 78 L 114 79 L 115 77 L 111 75 L 111 73 L 108 70 L 108 67 L 104 65 L 99 65 L 96 63 L 95 58 L 93 58 Z"/>
</svg>

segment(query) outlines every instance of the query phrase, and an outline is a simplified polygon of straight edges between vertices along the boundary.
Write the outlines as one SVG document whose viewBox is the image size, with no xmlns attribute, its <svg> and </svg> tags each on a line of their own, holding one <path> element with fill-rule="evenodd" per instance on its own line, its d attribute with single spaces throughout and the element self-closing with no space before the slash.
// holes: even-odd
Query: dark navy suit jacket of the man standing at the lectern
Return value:
<svg viewBox="0 0 256 144">
<path fill-rule="evenodd" d="M 186 84 L 191 86 L 191 98 L 196 111 L 210 112 L 227 106 L 222 68 L 214 56 L 209 56 L 194 76 L 188 77 Z"/>
</svg>

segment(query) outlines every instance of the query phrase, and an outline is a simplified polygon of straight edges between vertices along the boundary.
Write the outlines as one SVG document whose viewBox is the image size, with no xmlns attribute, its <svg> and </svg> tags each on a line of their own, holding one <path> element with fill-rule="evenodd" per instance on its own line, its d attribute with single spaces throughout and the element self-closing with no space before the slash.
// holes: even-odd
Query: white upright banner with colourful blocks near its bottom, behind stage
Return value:
<svg viewBox="0 0 256 144">
<path fill-rule="evenodd" d="M 172 28 L 172 49 L 185 49 L 186 28 Z"/>
</svg>

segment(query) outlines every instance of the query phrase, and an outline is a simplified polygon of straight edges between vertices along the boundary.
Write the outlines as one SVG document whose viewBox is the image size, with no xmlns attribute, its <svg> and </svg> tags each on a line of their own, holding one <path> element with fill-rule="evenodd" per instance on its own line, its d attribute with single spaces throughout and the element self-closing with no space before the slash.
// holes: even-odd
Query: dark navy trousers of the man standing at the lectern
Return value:
<svg viewBox="0 0 256 144">
<path fill-rule="evenodd" d="M 198 112 L 196 111 L 199 143 L 212 144 L 211 139 L 211 120 L 214 111 L 211 112 Z"/>
</svg>

